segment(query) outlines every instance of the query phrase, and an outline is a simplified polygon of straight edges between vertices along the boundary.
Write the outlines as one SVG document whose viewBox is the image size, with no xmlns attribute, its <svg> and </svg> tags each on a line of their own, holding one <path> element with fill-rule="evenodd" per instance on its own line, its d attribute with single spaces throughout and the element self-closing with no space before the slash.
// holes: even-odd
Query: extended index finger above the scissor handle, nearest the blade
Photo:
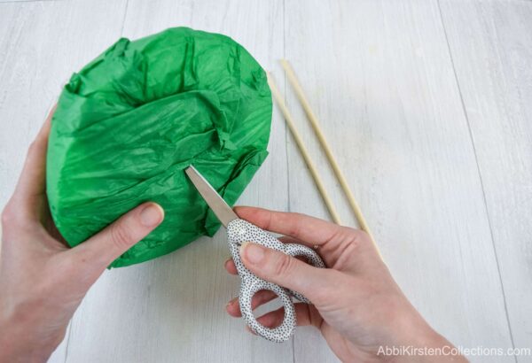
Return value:
<svg viewBox="0 0 532 363">
<path fill-rule="evenodd" d="M 274 212 L 239 206 L 235 212 L 243 220 L 275 233 L 291 236 L 309 247 L 334 240 L 342 227 L 301 213 Z"/>
</svg>

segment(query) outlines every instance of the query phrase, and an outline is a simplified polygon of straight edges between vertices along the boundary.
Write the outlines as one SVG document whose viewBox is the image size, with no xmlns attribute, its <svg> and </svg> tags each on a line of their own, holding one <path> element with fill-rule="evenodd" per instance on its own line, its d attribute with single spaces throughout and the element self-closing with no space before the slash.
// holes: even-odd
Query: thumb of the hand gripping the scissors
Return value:
<svg viewBox="0 0 532 363">
<path fill-rule="evenodd" d="M 334 286 L 330 270 L 310 266 L 261 244 L 243 243 L 240 258 L 247 269 L 258 277 L 297 291 L 314 304 L 319 304 L 319 299 L 327 296 L 324 292 Z"/>
</svg>

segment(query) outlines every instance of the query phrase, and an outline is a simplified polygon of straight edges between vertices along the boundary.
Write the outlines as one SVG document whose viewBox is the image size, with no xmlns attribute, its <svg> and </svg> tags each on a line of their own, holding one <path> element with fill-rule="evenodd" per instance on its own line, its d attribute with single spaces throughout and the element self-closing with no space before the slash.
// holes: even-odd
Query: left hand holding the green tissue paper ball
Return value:
<svg viewBox="0 0 532 363">
<path fill-rule="evenodd" d="M 86 242 L 68 248 L 53 225 L 45 193 L 52 113 L 30 146 L 2 213 L 0 362 L 48 359 L 90 286 L 164 218 L 159 205 L 138 205 Z"/>
</svg>

